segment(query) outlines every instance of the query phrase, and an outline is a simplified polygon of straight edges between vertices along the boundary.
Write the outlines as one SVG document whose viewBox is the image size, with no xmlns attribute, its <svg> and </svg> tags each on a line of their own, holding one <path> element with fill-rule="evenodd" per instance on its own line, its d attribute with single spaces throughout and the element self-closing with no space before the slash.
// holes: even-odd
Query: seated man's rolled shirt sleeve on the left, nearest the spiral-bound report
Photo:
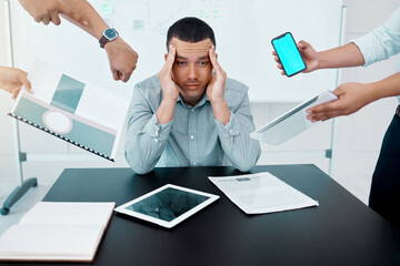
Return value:
<svg viewBox="0 0 400 266">
<path fill-rule="evenodd" d="M 172 121 L 159 124 L 140 86 L 133 90 L 128 113 L 124 155 L 128 164 L 138 174 L 152 171 L 166 149 Z"/>
</svg>

